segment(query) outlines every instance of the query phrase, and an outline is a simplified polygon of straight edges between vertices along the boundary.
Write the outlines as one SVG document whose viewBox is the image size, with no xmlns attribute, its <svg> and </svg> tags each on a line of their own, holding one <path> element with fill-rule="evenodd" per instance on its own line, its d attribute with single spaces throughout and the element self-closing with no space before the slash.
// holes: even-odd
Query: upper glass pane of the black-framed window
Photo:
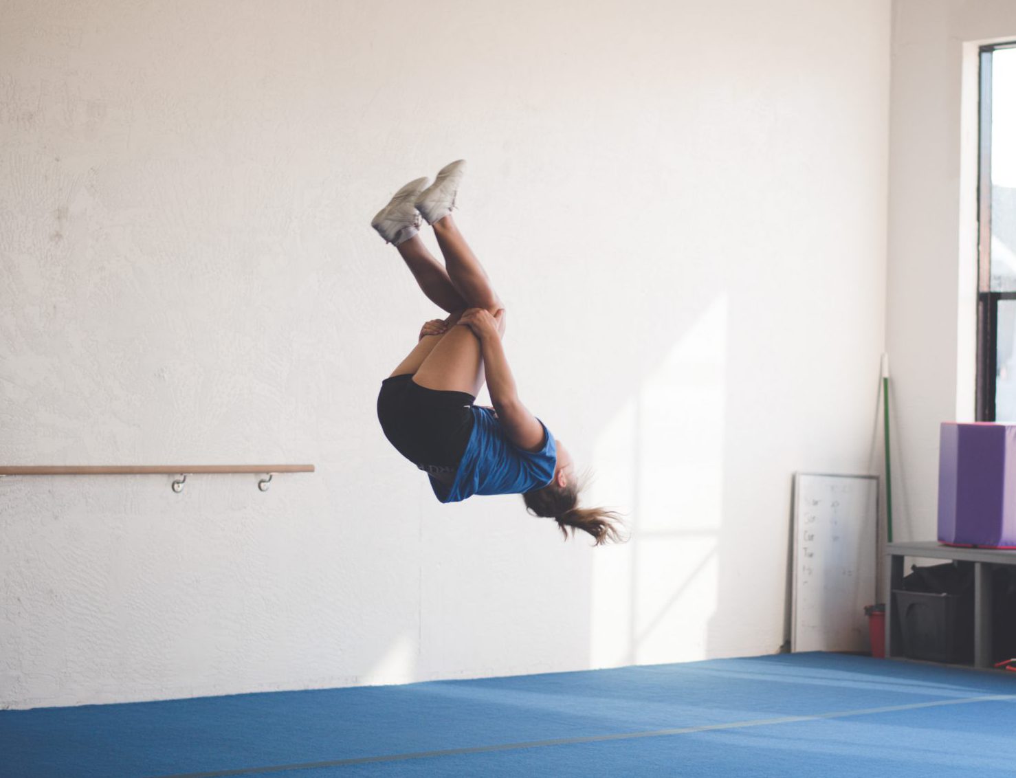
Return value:
<svg viewBox="0 0 1016 778">
<path fill-rule="evenodd" d="M 992 54 L 992 290 L 1016 291 L 1016 49 Z"/>
</svg>

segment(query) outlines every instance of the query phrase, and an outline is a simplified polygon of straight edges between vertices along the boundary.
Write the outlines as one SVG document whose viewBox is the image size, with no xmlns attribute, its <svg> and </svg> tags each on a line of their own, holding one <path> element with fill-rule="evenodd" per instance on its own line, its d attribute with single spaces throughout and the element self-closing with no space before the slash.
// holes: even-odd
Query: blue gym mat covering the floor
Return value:
<svg viewBox="0 0 1016 778">
<path fill-rule="evenodd" d="M 0 776 L 1012 776 L 1016 673 L 782 654 L 0 712 Z"/>
</svg>

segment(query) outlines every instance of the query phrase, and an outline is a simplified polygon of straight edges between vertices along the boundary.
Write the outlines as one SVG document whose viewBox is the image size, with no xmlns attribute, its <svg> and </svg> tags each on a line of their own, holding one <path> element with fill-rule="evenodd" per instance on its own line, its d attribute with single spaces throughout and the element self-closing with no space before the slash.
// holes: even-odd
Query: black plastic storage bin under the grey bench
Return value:
<svg viewBox="0 0 1016 778">
<path fill-rule="evenodd" d="M 959 594 L 893 591 L 903 655 L 933 662 L 973 660 L 973 609 Z"/>
</svg>

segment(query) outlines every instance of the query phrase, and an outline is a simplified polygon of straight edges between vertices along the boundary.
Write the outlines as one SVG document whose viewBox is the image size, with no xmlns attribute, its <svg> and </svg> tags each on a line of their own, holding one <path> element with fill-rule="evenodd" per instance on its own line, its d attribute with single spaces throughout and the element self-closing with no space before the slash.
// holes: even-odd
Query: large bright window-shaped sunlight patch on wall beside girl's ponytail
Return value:
<svg viewBox="0 0 1016 778">
<path fill-rule="evenodd" d="M 722 520 L 726 296 L 641 381 L 596 439 L 589 501 L 631 540 L 593 558 L 593 666 L 706 656 Z"/>
</svg>

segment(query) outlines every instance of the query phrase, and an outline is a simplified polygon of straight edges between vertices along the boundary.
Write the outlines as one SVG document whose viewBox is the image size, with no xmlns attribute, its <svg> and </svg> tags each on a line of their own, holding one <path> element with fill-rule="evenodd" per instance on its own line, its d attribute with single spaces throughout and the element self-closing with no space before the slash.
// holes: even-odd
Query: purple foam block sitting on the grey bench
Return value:
<svg viewBox="0 0 1016 778">
<path fill-rule="evenodd" d="M 1016 547 L 1016 425 L 942 425 L 939 541 Z"/>
</svg>

